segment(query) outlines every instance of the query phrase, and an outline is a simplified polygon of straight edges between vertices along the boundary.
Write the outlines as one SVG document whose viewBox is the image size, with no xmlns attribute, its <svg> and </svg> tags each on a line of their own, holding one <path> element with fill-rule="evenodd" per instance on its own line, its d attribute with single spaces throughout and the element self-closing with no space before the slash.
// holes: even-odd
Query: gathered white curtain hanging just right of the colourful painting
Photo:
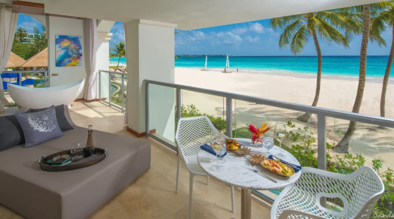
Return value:
<svg viewBox="0 0 394 219">
<path fill-rule="evenodd" d="M 86 19 L 86 41 L 89 57 L 89 78 L 86 84 L 85 100 L 94 100 L 97 94 L 96 72 L 96 45 L 97 45 L 97 20 Z"/>
</svg>

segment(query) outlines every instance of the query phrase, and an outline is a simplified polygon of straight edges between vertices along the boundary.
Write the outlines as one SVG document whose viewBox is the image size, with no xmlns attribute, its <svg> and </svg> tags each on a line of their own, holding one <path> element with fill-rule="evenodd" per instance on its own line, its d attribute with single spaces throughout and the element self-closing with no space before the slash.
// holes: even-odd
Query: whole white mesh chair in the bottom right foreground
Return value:
<svg viewBox="0 0 394 219">
<path fill-rule="evenodd" d="M 370 167 L 349 175 L 303 167 L 299 180 L 275 200 L 271 219 L 369 219 L 383 192 L 382 180 Z M 324 208 L 321 197 L 340 198 L 343 211 Z"/>
</svg>

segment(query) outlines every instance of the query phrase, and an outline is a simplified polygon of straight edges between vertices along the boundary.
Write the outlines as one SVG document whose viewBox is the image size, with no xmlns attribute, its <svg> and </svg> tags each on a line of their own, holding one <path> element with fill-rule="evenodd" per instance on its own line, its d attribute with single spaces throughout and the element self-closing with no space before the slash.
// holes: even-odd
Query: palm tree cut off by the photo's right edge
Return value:
<svg viewBox="0 0 394 219">
<path fill-rule="evenodd" d="M 389 61 L 387 62 L 386 72 L 383 77 L 382 95 L 380 97 L 380 116 L 382 117 L 385 117 L 387 84 L 389 82 L 390 71 L 394 59 L 394 1 L 391 1 L 391 4 L 385 6 L 385 9 L 380 11 L 379 15 L 376 16 L 372 21 L 372 23 L 376 25 L 371 26 L 371 32 L 378 32 L 378 34 L 381 29 L 384 29 L 386 27 L 386 25 L 392 27 L 393 39 L 389 54 Z M 377 31 L 375 29 L 377 29 Z"/>
</svg>

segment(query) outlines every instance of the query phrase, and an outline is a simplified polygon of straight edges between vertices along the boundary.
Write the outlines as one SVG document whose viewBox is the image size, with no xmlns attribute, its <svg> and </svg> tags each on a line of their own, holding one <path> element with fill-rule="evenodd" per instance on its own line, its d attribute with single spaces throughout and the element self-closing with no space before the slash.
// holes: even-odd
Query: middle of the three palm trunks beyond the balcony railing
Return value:
<svg viewBox="0 0 394 219">
<path fill-rule="evenodd" d="M 352 112 L 359 113 L 362 103 L 362 96 L 364 94 L 365 87 L 365 73 L 366 73 L 366 52 L 368 49 L 369 31 L 371 29 L 371 8 L 369 4 L 362 5 L 364 24 L 361 40 L 361 51 L 360 51 L 360 75 L 359 75 L 359 86 L 357 88 L 356 100 L 353 105 Z M 349 143 L 354 131 L 356 130 L 357 122 L 350 121 L 348 131 L 343 136 L 342 140 L 335 146 L 335 152 L 349 153 Z"/>
</svg>

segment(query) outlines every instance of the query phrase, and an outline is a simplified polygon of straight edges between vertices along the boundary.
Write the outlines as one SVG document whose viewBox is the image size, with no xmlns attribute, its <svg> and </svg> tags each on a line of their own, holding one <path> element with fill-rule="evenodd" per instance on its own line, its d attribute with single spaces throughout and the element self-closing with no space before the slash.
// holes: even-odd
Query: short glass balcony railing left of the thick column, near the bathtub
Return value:
<svg viewBox="0 0 394 219">
<path fill-rule="evenodd" d="M 99 71 L 99 100 L 123 112 L 126 110 L 127 73 Z"/>
</svg>

